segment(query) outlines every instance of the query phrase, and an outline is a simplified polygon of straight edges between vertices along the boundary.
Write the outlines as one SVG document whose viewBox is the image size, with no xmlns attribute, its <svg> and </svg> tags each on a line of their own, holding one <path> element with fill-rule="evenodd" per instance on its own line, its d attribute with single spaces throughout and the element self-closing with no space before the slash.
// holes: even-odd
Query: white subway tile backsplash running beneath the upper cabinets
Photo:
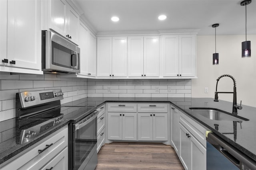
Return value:
<svg viewBox="0 0 256 170">
<path fill-rule="evenodd" d="M 15 134 L 16 93 L 50 89 L 62 89 L 62 104 L 86 97 L 190 98 L 191 80 L 86 79 L 58 77 L 53 74 L 11 75 L 8 72 L 0 72 L 0 122 L 6 121 L 10 125 L 0 127 L 0 143 L 13 137 L 4 134 Z"/>
</svg>

